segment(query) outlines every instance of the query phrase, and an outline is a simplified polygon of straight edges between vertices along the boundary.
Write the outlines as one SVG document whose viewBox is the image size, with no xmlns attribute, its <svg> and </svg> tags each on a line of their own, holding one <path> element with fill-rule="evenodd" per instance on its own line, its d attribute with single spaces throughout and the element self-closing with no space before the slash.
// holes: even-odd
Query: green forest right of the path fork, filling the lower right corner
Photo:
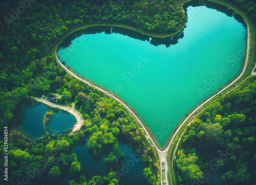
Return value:
<svg viewBox="0 0 256 185">
<path fill-rule="evenodd" d="M 256 80 L 249 79 L 187 127 L 176 154 L 180 184 L 207 184 L 214 173 L 222 184 L 256 181 Z"/>
</svg>

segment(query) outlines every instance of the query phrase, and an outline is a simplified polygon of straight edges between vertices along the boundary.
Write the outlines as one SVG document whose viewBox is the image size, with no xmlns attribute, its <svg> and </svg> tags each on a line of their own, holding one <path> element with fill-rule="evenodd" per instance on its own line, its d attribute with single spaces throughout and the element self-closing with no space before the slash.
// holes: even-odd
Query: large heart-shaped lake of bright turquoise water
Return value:
<svg viewBox="0 0 256 185">
<path fill-rule="evenodd" d="M 184 37 L 168 48 L 97 33 L 57 52 L 78 74 L 130 104 L 160 147 L 187 112 L 239 73 L 245 54 L 247 31 L 236 19 L 204 6 L 187 13 Z"/>
</svg>

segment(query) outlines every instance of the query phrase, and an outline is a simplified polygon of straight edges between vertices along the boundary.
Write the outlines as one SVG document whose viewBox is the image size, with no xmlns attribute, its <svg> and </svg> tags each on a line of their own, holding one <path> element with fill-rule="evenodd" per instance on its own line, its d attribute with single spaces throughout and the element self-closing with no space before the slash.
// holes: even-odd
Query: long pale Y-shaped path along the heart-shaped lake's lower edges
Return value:
<svg viewBox="0 0 256 185">
<path fill-rule="evenodd" d="M 245 19 L 245 18 L 244 18 L 244 19 Z M 248 24 L 247 24 L 247 25 L 248 25 Z M 115 97 L 115 96 L 112 95 L 111 93 L 109 93 L 109 92 L 105 91 L 104 89 L 101 89 L 101 88 L 99 88 L 99 87 L 97 87 L 97 86 L 91 84 L 89 81 L 84 80 L 84 79 L 80 78 L 79 76 L 77 76 L 76 74 L 74 74 L 73 72 L 71 72 L 66 66 L 64 66 L 64 65 L 60 62 L 60 60 L 59 60 L 59 58 L 58 58 L 58 56 L 57 56 L 57 51 L 56 51 L 56 50 L 55 50 L 55 58 L 56 58 L 56 60 L 57 60 L 57 63 L 58 63 L 63 69 L 65 69 L 68 74 L 72 75 L 73 77 L 75 77 L 76 79 L 82 81 L 83 83 L 86 83 L 86 84 L 89 85 L 90 87 L 93 87 L 93 88 L 97 89 L 98 91 L 100 91 L 100 92 L 102 92 L 102 93 L 105 93 L 105 94 L 107 94 L 108 96 L 110 96 L 111 98 L 115 99 L 115 100 L 118 101 L 121 105 L 123 105 L 127 111 L 129 111 L 129 112 L 134 116 L 134 118 L 136 119 L 136 121 L 137 121 L 137 122 L 141 125 L 141 127 L 143 128 L 143 130 L 144 130 L 144 132 L 145 132 L 145 137 L 147 138 L 147 140 L 149 140 L 150 143 L 156 148 L 156 150 L 157 150 L 157 152 L 158 152 L 158 154 L 159 154 L 159 158 L 160 158 L 161 182 L 163 182 L 163 180 L 166 180 L 166 184 L 168 184 L 168 178 L 167 178 L 167 171 L 168 171 L 167 168 L 168 168 L 168 165 L 167 165 L 167 160 L 166 160 L 166 158 L 167 158 L 167 152 L 168 152 L 168 150 L 170 149 L 170 146 L 172 146 L 172 143 L 173 143 L 173 141 L 174 141 L 174 138 L 176 137 L 176 135 L 177 135 L 177 133 L 180 131 L 180 129 L 183 127 L 183 125 L 185 124 L 185 122 L 186 122 L 193 114 L 195 114 L 202 106 L 204 106 L 204 105 L 205 105 L 207 102 L 209 102 L 212 98 L 216 97 L 217 95 L 219 95 L 220 93 L 222 93 L 223 91 L 225 91 L 226 89 L 228 89 L 230 86 L 232 86 L 234 83 L 236 83 L 236 81 L 238 81 L 238 80 L 243 76 L 243 74 L 244 74 L 244 72 L 245 72 L 245 70 L 246 70 L 247 63 L 248 63 L 248 58 L 249 58 L 249 49 L 250 49 L 250 46 L 249 46 L 250 39 L 249 39 L 249 38 L 250 38 L 250 30 L 249 30 L 249 27 L 248 27 L 248 28 L 247 28 L 247 53 L 246 53 L 246 59 L 245 59 L 244 68 L 243 68 L 241 74 L 240 74 L 236 79 L 234 79 L 229 85 L 227 85 L 227 86 L 226 86 L 225 88 L 223 88 L 221 91 L 219 91 L 219 92 L 216 93 L 215 95 L 213 95 L 213 96 L 211 96 L 210 98 L 208 98 L 207 100 L 205 100 L 205 101 L 204 101 L 201 105 L 199 105 L 193 112 L 191 112 L 191 113 L 186 117 L 186 119 L 182 122 L 182 124 L 179 126 L 179 128 L 176 130 L 176 132 L 174 133 L 172 139 L 170 139 L 167 148 L 165 148 L 164 150 L 161 150 L 161 149 L 157 146 L 155 140 L 154 140 L 154 139 L 151 137 L 151 135 L 148 133 L 148 131 L 147 131 L 147 129 L 145 128 L 145 126 L 143 125 L 142 121 L 137 117 L 137 115 L 136 115 L 122 100 L 118 99 L 117 97 Z M 38 99 L 39 99 L 39 98 L 38 98 Z M 42 99 L 40 99 L 40 100 L 42 100 Z M 45 100 L 45 101 L 46 101 L 46 100 Z M 42 102 L 43 102 L 43 101 L 42 101 Z M 47 102 L 48 102 L 48 105 L 49 105 L 49 103 L 51 103 L 51 102 L 49 102 L 49 101 L 47 101 Z M 46 102 L 44 102 L 44 103 L 46 103 Z M 54 104 L 54 105 L 56 105 L 56 104 Z M 51 105 L 50 105 L 50 106 L 51 106 Z M 65 107 L 65 106 L 63 106 L 63 107 Z M 67 108 L 67 107 L 66 107 L 66 108 Z M 65 109 L 64 109 L 64 110 L 65 110 Z M 69 110 L 67 110 L 67 111 L 69 111 Z M 79 114 L 80 114 L 80 113 L 79 113 Z M 73 114 L 73 115 L 74 115 L 74 114 Z M 194 120 L 194 119 L 193 119 L 193 120 Z M 191 120 L 190 122 L 192 122 L 193 120 Z M 84 121 L 83 121 L 83 123 L 84 123 Z M 189 123 L 189 124 L 190 124 L 190 123 Z M 78 125 L 81 127 L 81 125 L 80 125 L 79 123 L 78 123 Z M 75 130 L 78 130 L 78 129 L 80 128 L 79 126 L 75 127 L 74 129 L 75 129 Z M 73 129 L 73 130 L 74 130 L 74 129 Z M 184 132 L 185 132 L 185 131 L 184 131 Z M 183 132 L 183 133 L 184 133 L 184 132 Z M 182 135 L 183 135 L 183 133 L 182 133 Z M 181 138 L 179 138 L 179 141 L 180 141 L 180 139 L 181 139 Z M 178 143 L 179 143 L 179 141 L 178 141 Z M 178 143 L 177 143 L 177 146 L 178 146 Z M 176 149 L 177 149 L 177 146 L 176 146 L 176 148 L 175 148 L 175 151 L 176 151 Z M 172 160 L 172 161 L 173 161 L 173 160 Z M 165 164 L 165 179 L 162 179 L 162 162 L 164 162 L 164 164 Z M 172 184 L 173 184 L 173 182 L 172 182 Z"/>
</svg>

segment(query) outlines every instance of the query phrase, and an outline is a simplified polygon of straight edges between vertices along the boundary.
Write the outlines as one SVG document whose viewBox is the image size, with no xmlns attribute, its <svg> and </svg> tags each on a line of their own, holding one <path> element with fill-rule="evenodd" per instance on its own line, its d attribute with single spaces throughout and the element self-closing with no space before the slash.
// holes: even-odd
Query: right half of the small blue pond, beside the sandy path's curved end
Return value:
<svg viewBox="0 0 256 185">
<path fill-rule="evenodd" d="M 75 116 L 68 112 L 54 114 L 46 125 L 46 130 L 50 134 L 58 134 L 71 129 L 76 122 Z"/>
</svg>

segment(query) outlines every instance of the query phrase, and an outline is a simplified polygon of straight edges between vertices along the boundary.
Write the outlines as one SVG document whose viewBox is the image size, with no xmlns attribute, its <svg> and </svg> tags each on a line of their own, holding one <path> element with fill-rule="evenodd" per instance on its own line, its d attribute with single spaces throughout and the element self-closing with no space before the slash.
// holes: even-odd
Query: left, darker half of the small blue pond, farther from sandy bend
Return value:
<svg viewBox="0 0 256 185">
<path fill-rule="evenodd" d="M 22 124 L 16 130 L 24 133 L 30 139 L 38 139 L 46 134 L 44 129 L 44 116 L 48 108 L 44 104 L 27 106 L 23 115 Z"/>
</svg>

